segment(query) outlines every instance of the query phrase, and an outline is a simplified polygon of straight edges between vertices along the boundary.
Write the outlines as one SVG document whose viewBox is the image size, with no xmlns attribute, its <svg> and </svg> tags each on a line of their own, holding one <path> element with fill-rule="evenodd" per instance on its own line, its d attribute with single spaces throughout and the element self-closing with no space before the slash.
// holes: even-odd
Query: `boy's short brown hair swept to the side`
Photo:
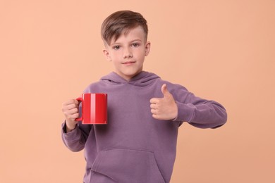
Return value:
<svg viewBox="0 0 275 183">
<path fill-rule="evenodd" d="M 116 41 L 122 33 L 127 34 L 130 30 L 138 26 L 141 26 L 144 30 L 145 40 L 147 40 L 147 21 L 140 13 L 133 11 L 116 11 L 109 15 L 102 23 L 102 39 L 110 45 L 113 38 L 114 41 Z"/>
</svg>

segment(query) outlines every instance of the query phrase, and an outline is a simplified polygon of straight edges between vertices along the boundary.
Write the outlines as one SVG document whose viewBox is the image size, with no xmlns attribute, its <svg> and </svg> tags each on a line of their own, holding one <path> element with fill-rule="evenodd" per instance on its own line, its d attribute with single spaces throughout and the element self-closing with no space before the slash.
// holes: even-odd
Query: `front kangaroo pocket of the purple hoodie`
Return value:
<svg viewBox="0 0 275 183">
<path fill-rule="evenodd" d="M 102 173 L 116 182 L 164 183 L 154 153 L 134 149 L 100 151 L 92 165 L 94 172 Z"/>
</svg>

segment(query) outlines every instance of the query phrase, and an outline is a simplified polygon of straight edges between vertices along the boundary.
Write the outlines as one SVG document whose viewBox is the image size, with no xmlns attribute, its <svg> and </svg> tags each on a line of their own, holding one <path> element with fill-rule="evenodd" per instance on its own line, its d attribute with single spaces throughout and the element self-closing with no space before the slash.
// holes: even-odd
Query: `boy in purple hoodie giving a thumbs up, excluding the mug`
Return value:
<svg viewBox="0 0 275 183">
<path fill-rule="evenodd" d="M 78 101 L 63 103 L 62 139 L 71 151 L 85 149 L 84 182 L 169 182 L 183 122 L 216 128 L 226 110 L 200 99 L 185 87 L 142 71 L 149 54 L 147 22 L 140 13 L 118 11 L 102 23 L 104 55 L 114 72 L 84 93 L 108 94 L 108 125 L 76 122 Z"/>
</svg>

